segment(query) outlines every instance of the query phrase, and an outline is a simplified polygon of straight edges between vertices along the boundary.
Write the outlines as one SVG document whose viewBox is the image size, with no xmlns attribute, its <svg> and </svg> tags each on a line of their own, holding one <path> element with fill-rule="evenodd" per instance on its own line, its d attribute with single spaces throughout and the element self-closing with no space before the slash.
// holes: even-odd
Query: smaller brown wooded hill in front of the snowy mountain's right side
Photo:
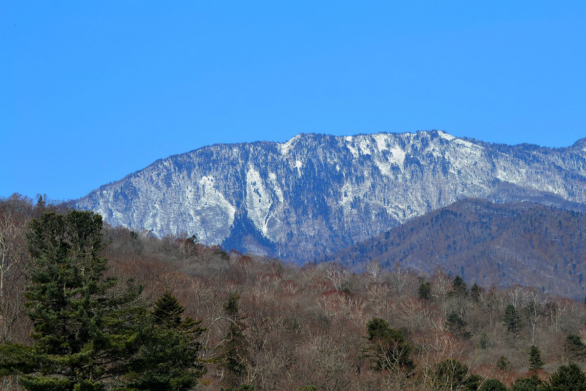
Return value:
<svg viewBox="0 0 586 391">
<path fill-rule="evenodd" d="M 490 287 L 522 284 L 584 298 L 586 214 L 534 203 L 460 200 L 415 217 L 328 260 L 437 266 Z"/>
</svg>

